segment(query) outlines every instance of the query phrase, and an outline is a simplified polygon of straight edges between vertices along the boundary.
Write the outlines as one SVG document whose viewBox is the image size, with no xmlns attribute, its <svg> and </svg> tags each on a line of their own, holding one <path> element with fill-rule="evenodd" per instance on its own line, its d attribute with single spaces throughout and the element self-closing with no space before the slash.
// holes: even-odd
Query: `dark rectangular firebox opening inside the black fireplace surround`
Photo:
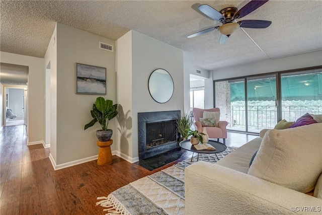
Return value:
<svg viewBox="0 0 322 215">
<path fill-rule="evenodd" d="M 176 140 L 176 120 L 146 123 L 146 149 Z"/>
</svg>

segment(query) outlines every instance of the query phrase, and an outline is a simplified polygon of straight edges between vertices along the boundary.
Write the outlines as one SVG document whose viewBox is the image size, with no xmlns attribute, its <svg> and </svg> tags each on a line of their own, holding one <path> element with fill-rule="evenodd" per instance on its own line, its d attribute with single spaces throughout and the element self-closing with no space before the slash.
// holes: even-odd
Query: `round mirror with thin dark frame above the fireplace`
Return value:
<svg viewBox="0 0 322 215">
<path fill-rule="evenodd" d="M 162 68 L 152 71 L 148 87 L 151 97 L 158 103 L 168 102 L 174 92 L 172 77 L 168 71 Z"/>
</svg>

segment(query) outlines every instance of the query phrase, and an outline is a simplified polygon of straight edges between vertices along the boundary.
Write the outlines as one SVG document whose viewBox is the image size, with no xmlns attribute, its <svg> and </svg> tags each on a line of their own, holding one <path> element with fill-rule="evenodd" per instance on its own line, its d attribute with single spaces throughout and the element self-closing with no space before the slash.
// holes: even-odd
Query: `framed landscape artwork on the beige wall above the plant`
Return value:
<svg viewBox="0 0 322 215">
<path fill-rule="evenodd" d="M 106 68 L 76 63 L 76 94 L 106 95 Z"/>
</svg>

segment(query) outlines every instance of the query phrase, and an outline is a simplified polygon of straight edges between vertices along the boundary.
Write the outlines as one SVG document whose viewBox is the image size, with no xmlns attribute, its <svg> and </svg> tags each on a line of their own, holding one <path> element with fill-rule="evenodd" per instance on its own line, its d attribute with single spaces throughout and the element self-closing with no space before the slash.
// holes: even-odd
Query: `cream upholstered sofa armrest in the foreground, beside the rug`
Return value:
<svg viewBox="0 0 322 215">
<path fill-rule="evenodd" d="M 322 208 L 322 201 L 204 161 L 185 169 L 186 214 L 293 214 L 291 208 L 300 206 L 318 210 Z"/>
</svg>

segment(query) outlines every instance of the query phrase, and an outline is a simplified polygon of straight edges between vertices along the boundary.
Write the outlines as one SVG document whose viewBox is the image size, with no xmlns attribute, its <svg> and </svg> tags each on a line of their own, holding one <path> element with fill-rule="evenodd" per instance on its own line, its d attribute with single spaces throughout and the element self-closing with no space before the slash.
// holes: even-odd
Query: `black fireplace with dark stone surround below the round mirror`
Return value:
<svg viewBox="0 0 322 215">
<path fill-rule="evenodd" d="M 178 111 L 138 113 L 139 160 L 177 148 Z"/>
</svg>

